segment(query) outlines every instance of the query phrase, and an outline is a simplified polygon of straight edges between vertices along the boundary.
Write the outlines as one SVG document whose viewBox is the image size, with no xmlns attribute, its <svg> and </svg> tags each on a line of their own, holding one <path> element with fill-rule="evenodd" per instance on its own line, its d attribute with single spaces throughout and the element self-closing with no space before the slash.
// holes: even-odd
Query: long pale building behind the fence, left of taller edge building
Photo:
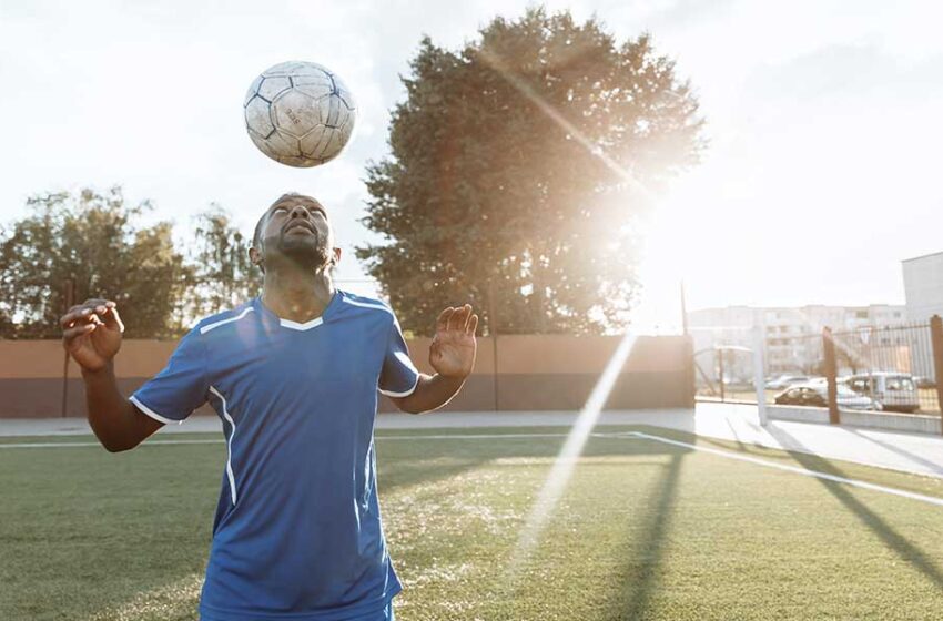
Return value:
<svg viewBox="0 0 943 621">
<path fill-rule="evenodd" d="M 759 326 L 763 335 L 765 376 L 820 375 L 823 328 L 850 332 L 872 326 L 895 326 L 905 320 L 906 307 L 891 304 L 727 306 L 689 312 L 688 330 L 694 344 L 699 378 L 716 381 L 719 367 L 716 347 L 752 349 L 754 326 Z M 727 350 L 723 355 L 723 369 L 728 381 L 747 384 L 753 379 L 753 362 L 749 352 Z"/>
</svg>

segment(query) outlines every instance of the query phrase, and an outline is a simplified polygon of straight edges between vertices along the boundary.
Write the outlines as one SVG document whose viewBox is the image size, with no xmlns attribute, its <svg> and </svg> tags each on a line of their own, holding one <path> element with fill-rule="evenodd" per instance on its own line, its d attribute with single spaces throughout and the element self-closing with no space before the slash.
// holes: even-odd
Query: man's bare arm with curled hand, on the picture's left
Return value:
<svg viewBox="0 0 943 621">
<path fill-rule="evenodd" d="M 111 452 L 128 450 L 163 427 L 142 414 L 118 389 L 114 356 L 124 325 L 118 307 L 105 299 L 88 299 L 62 316 L 62 345 L 82 368 L 89 425 Z"/>
</svg>

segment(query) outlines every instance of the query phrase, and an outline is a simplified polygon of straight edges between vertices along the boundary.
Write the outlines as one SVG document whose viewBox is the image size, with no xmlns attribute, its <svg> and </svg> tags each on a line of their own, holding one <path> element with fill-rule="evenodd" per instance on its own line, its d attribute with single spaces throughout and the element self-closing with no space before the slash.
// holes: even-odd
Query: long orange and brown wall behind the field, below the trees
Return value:
<svg viewBox="0 0 943 621">
<path fill-rule="evenodd" d="M 408 342 L 419 370 L 432 374 L 430 339 Z M 478 359 L 462 391 L 445 409 L 578 409 L 619 344 L 616 336 L 519 335 L 478 339 Z M 176 342 L 122 344 L 115 358 L 119 388 L 130 395 L 160 371 Z M 0 418 L 84 416 L 84 385 L 58 340 L 0 340 Z M 498 373 L 495 374 L 497 359 Z M 620 369 L 607 407 L 689 407 L 693 403 L 691 342 L 687 337 L 640 337 Z M 63 410 L 64 408 L 64 410 Z M 381 411 L 395 409 L 385 397 Z M 206 410 L 209 411 L 209 410 Z"/>
</svg>

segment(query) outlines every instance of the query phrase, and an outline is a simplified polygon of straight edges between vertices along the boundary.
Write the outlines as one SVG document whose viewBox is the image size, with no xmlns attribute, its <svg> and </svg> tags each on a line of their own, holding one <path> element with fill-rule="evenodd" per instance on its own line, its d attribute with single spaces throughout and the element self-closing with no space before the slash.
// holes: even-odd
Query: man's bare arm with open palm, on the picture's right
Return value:
<svg viewBox="0 0 943 621">
<path fill-rule="evenodd" d="M 452 400 L 475 368 L 477 328 L 478 315 L 472 313 L 469 304 L 443 310 L 436 320 L 436 335 L 429 347 L 429 364 L 437 373 L 433 376 L 419 374 L 416 389 L 410 395 L 391 397 L 396 407 L 410 414 L 422 414 Z"/>
</svg>

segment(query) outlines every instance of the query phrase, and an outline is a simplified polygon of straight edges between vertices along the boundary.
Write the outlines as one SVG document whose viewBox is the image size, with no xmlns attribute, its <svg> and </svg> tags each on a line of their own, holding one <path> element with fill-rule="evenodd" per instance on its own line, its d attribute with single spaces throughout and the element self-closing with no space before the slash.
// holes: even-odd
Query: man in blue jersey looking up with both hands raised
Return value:
<svg viewBox="0 0 943 621">
<path fill-rule="evenodd" d="M 427 376 L 388 306 L 334 287 L 341 250 L 317 201 L 278 198 L 252 245 L 262 296 L 200 322 L 130 399 L 113 370 L 116 305 L 90 299 L 62 317 L 89 423 L 120 451 L 206 401 L 220 415 L 227 459 L 203 621 L 391 620 L 400 584 L 376 495 L 377 391 L 414 414 L 446 404 L 475 364 L 478 317 L 442 312 Z"/>
</svg>

